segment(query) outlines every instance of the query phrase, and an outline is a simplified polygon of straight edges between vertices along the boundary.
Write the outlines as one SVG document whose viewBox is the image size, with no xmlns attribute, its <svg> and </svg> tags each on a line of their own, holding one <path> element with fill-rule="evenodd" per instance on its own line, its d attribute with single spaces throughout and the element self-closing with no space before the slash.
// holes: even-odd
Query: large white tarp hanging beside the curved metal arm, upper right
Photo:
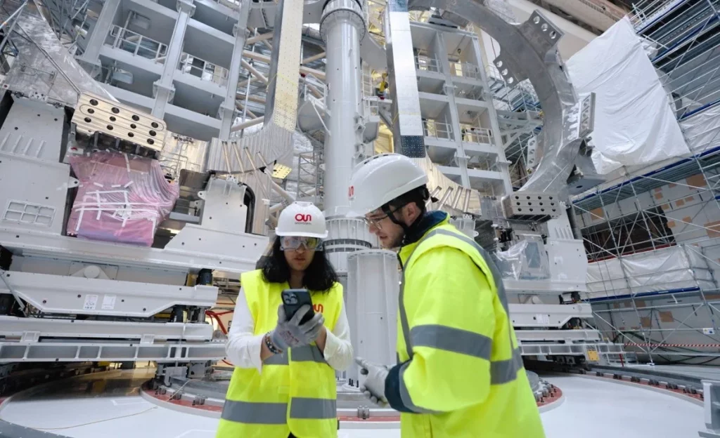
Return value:
<svg viewBox="0 0 720 438">
<path fill-rule="evenodd" d="M 593 163 L 600 174 L 690 152 L 667 93 L 627 17 L 567 61 L 580 95 L 595 93 Z"/>
</svg>

